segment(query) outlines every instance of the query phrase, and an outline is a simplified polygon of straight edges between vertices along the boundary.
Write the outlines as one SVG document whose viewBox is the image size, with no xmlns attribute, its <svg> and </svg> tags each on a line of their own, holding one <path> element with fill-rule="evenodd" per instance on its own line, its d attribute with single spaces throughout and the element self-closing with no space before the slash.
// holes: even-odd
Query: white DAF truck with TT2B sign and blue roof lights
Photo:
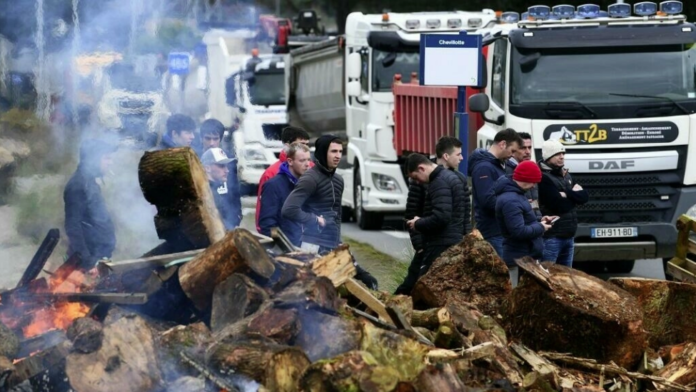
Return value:
<svg viewBox="0 0 696 392">
<path fill-rule="evenodd" d="M 675 220 L 696 204 L 696 26 L 681 3 L 530 7 L 484 37 L 479 147 L 513 128 L 566 145 L 590 194 L 578 207 L 575 260 L 630 272 L 674 255 Z M 633 15 L 632 15 L 633 14 Z"/>
</svg>

